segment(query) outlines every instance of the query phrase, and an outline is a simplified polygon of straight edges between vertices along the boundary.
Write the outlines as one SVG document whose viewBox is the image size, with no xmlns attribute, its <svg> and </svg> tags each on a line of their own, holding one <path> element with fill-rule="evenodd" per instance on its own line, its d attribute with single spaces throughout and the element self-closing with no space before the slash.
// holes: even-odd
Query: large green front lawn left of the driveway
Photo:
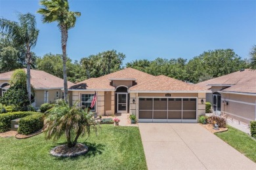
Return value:
<svg viewBox="0 0 256 170">
<path fill-rule="evenodd" d="M 0 169 L 147 169 L 138 127 L 101 125 L 98 136 L 79 139 L 89 152 L 76 158 L 55 158 L 44 134 L 28 139 L 0 138 Z"/>
</svg>

